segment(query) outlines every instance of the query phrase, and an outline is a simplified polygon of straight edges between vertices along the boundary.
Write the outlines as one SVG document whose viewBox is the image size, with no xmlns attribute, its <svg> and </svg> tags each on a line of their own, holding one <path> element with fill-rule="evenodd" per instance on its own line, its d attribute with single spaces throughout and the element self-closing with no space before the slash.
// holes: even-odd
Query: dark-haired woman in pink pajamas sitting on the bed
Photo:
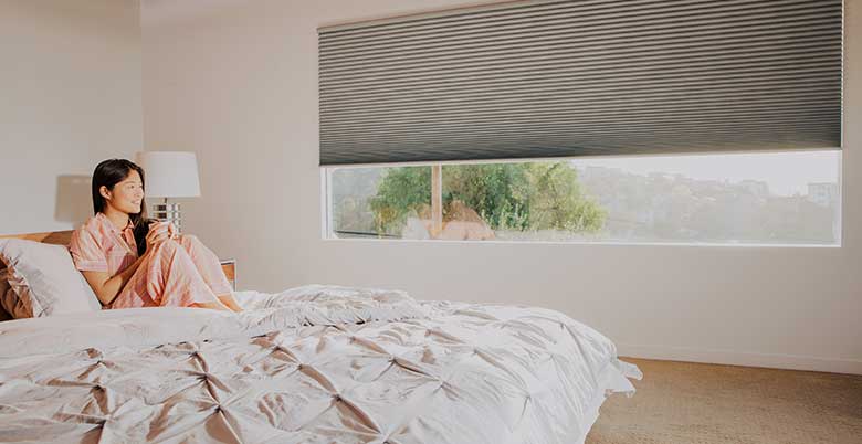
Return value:
<svg viewBox="0 0 862 444">
<path fill-rule="evenodd" d="M 93 172 L 93 210 L 69 250 L 103 306 L 241 311 L 216 254 L 172 224 L 147 220 L 144 170 L 125 159 Z"/>
</svg>

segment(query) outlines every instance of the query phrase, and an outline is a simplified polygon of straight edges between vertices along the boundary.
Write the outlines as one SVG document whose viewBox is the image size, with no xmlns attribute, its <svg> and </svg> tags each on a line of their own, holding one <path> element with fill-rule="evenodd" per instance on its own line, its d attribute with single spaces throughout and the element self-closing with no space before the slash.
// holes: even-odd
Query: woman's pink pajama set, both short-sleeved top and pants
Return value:
<svg viewBox="0 0 862 444">
<path fill-rule="evenodd" d="M 69 250 L 82 272 L 123 272 L 138 258 L 129 222 L 118 230 L 103 213 L 72 234 Z M 182 235 L 149 246 L 149 254 L 111 303 L 111 308 L 188 307 L 231 293 L 216 254 L 197 237 Z"/>
</svg>

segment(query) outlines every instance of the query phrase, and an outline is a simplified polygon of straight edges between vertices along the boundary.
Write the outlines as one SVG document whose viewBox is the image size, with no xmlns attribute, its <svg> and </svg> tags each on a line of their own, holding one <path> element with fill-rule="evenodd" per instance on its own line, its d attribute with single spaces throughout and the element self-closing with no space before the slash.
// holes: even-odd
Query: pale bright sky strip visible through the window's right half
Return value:
<svg viewBox="0 0 862 444">
<path fill-rule="evenodd" d="M 581 158 L 577 167 L 619 168 L 635 175 L 680 173 L 692 179 L 739 182 L 759 180 L 778 195 L 807 194 L 808 183 L 838 183 L 841 151 L 722 154 Z"/>
</svg>

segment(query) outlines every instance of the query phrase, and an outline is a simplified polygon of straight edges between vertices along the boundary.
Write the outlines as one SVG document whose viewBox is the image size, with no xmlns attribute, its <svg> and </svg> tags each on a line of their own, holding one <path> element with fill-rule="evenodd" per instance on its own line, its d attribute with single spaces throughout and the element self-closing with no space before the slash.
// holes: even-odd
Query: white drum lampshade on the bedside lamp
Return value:
<svg viewBox="0 0 862 444">
<path fill-rule="evenodd" d="M 141 151 L 135 156 L 144 168 L 147 198 L 198 198 L 198 159 L 187 151 Z"/>
</svg>

